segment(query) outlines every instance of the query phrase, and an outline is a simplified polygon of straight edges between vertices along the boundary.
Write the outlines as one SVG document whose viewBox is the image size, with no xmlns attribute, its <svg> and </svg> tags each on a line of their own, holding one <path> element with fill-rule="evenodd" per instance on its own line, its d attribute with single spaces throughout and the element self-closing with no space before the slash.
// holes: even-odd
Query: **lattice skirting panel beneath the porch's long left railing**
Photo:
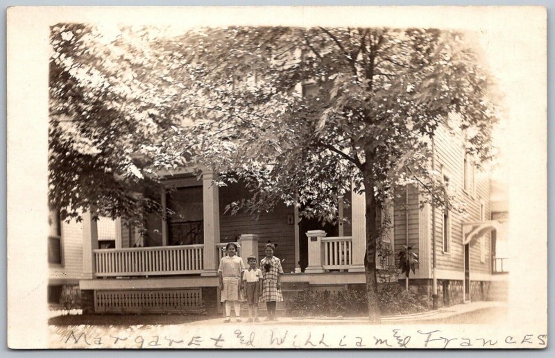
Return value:
<svg viewBox="0 0 555 358">
<path fill-rule="evenodd" d="M 95 291 L 97 313 L 199 312 L 200 289 L 158 289 Z"/>
</svg>

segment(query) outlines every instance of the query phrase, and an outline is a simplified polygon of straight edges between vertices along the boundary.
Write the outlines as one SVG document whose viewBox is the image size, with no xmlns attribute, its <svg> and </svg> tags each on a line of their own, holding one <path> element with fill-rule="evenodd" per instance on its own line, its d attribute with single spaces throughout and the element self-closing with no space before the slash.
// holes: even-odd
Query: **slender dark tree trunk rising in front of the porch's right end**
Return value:
<svg viewBox="0 0 555 358">
<path fill-rule="evenodd" d="M 366 197 L 366 255 L 364 255 L 364 271 L 366 273 L 366 294 L 368 296 L 368 318 L 370 324 L 382 323 L 379 312 L 379 300 L 376 277 L 376 248 L 378 228 L 376 223 L 376 201 L 374 185 L 370 180 L 364 180 Z"/>
</svg>

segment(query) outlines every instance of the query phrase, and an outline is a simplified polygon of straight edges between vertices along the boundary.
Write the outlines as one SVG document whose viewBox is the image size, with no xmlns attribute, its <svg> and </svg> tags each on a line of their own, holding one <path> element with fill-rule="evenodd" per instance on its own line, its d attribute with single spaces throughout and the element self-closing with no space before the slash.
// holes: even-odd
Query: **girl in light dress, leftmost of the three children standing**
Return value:
<svg viewBox="0 0 555 358">
<path fill-rule="evenodd" d="M 243 300 L 243 273 L 245 264 L 237 256 L 237 244 L 230 242 L 225 246 L 227 255 L 221 258 L 218 269 L 221 289 L 221 302 L 225 302 L 225 323 L 231 320 L 233 305 L 235 318 L 241 322 L 241 301 Z"/>
</svg>

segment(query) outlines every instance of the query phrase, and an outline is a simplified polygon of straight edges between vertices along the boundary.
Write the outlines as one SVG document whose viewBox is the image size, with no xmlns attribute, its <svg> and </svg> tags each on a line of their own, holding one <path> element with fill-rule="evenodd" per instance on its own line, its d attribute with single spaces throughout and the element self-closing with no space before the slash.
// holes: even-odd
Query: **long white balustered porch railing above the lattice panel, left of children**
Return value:
<svg viewBox="0 0 555 358">
<path fill-rule="evenodd" d="M 96 276 L 182 275 L 203 271 L 204 245 L 94 250 Z"/>
</svg>

